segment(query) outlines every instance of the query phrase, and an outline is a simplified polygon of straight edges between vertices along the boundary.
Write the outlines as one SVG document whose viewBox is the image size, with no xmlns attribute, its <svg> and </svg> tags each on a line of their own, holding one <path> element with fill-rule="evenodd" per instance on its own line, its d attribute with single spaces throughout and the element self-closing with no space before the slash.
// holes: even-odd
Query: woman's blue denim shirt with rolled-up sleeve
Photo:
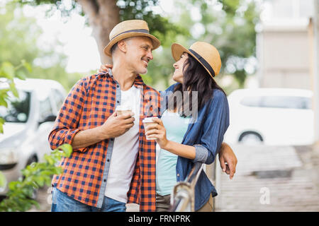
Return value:
<svg viewBox="0 0 319 226">
<path fill-rule="evenodd" d="M 173 92 L 177 84 L 171 85 L 167 90 L 161 92 L 162 97 Z M 167 98 L 164 98 L 164 100 L 167 100 Z M 197 120 L 189 124 L 184 134 L 181 143 L 194 146 L 196 157 L 194 160 L 178 157 L 176 166 L 177 182 L 186 179 L 194 162 L 203 162 L 207 165 L 213 163 L 228 126 L 228 100 L 221 90 L 216 89 L 213 91 L 213 98 L 198 110 Z M 210 194 L 217 196 L 216 189 L 206 173 L 202 171 L 195 186 L 195 210 L 200 209 L 208 201 Z"/>
</svg>

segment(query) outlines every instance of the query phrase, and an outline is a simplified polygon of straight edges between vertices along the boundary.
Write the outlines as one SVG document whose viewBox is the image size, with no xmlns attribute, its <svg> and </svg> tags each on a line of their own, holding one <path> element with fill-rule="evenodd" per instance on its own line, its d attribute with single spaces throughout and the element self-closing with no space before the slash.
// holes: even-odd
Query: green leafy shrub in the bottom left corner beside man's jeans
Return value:
<svg viewBox="0 0 319 226">
<path fill-rule="evenodd" d="M 44 156 L 44 162 L 33 162 L 25 169 L 22 169 L 23 179 L 9 183 L 7 198 L 0 203 L 0 211 L 26 211 L 32 206 L 39 208 L 38 202 L 32 199 L 34 189 L 50 186 L 53 174 L 62 174 L 62 167 L 57 163 L 62 157 L 69 157 L 72 154 L 72 146 L 61 145 Z M 2 175 L 2 176 L 1 176 Z M 0 172 L 0 185 L 5 184 L 4 175 Z"/>
</svg>

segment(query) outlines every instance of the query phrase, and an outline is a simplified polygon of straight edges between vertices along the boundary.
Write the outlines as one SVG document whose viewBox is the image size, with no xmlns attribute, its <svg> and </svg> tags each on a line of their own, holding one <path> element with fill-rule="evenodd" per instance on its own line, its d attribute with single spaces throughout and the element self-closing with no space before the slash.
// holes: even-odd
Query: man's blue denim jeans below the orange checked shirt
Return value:
<svg viewBox="0 0 319 226">
<path fill-rule="evenodd" d="M 81 203 L 59 191 L 56 188 L 52 190 L 51 212 L 125 212 L 125 203 L 116 201 L 113 198 L 104 196 L 101 208 L 89 206 Z"/>
</svg>

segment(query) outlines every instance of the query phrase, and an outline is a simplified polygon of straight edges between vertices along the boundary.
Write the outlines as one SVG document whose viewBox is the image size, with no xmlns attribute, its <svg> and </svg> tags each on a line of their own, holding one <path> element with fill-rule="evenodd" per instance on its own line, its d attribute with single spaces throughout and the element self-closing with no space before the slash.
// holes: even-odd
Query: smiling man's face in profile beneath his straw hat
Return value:
<svg viewBox="0 0 319 226">
<path fill-rule="evenodd" d="M 152 40 L 149 37 L 132 37 L 125 41 L 126 62 L 135 73 L 147 73 L 147 66 L 152 56 Z"/>
</svg>

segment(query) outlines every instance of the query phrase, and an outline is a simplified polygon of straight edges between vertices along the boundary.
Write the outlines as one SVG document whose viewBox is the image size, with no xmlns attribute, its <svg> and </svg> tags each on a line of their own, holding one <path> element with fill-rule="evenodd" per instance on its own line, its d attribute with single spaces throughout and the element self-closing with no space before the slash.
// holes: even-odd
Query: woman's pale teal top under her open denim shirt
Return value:
<svg viewBox="0 0 319 226">
<path fill-rule="evenodd" d="M 166 129 L 167 140 L 181 143 L 189 126 L 189 117 L 180 117 L 179 114 L 165 111 L 162 121 Z M 177 155 L 160 149 L 156 164 L 156 192 L 161 196 L 172 193 L 177 183 L 176 164 Z"/>
</svg>

